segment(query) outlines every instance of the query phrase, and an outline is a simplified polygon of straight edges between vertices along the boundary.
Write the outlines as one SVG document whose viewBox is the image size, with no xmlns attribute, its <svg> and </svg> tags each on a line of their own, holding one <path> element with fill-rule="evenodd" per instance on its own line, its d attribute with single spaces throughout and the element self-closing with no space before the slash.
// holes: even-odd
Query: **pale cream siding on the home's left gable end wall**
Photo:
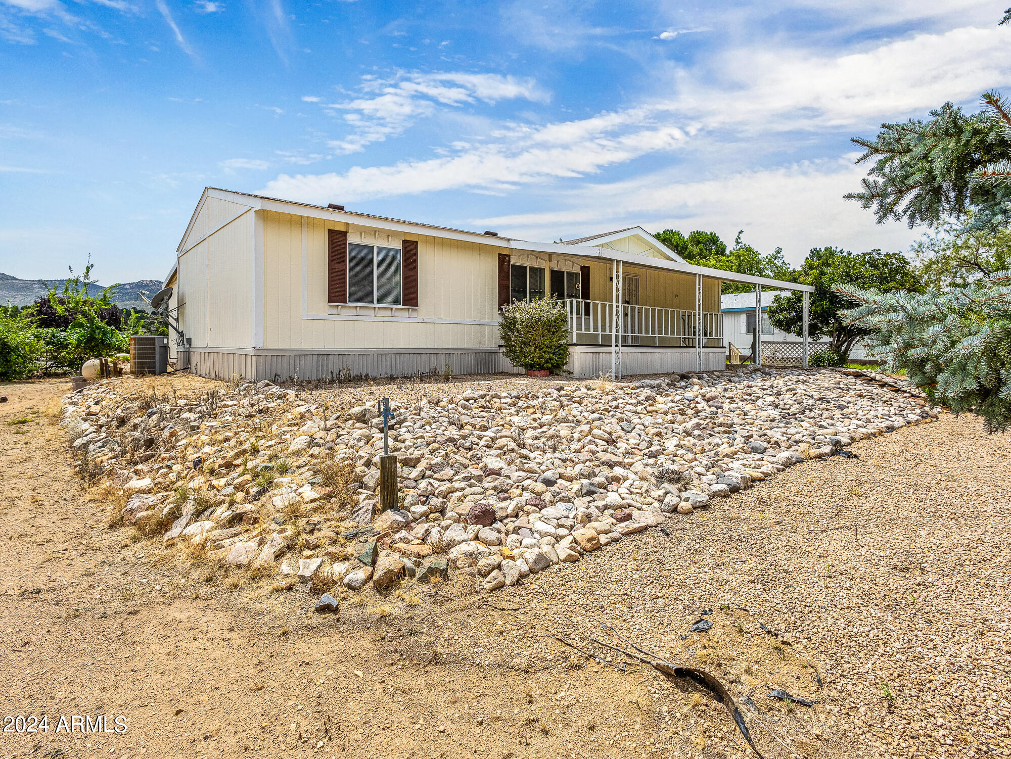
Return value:
<svg viewBox="0 0 1011 759">
<path fill-rule="evenodd" d="M 179 321 L 194 348 L 252 347 L 252 212 L 180 256 L 179 302 Z"/>
</svg>

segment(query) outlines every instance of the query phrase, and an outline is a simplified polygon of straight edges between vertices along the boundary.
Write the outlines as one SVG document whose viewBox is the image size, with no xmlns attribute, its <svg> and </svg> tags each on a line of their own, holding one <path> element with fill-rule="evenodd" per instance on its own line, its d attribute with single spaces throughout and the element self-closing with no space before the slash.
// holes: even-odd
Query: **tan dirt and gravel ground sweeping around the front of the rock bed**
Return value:
<svg viewBox="0 0 1011 759">
<path fill-rule="evenodd" d="M 601 623 L 716 674 L 766 757 L 1011 755 L 1011 443 L 975 419 L 807 462 L 529 584 L 461 574 L 320 616 L 106 529 L 53 423 L 68 389 L 0 385 L 0 692 L 49 727 L 10 720 L 3 756 L 754 756 L 707 690 L 589 641 L 627 648 Z"/>
</svg>

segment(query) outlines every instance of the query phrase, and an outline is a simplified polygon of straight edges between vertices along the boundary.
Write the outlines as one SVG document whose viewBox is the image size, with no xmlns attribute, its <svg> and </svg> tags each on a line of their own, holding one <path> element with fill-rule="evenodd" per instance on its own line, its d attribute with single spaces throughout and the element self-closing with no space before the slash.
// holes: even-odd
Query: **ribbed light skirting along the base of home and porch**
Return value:
<svg viewBox="0 0 1011 759">
<path fill-rule="evenodd" d="M 185 354 L 179 356 L 185 360 Z M 704 348 L 703 371 L 719 371 L 726 366 L 723 348 Z M 668 374 L 696 371 L 694 348 L 626 347 L 622 349 L 622 375 Z M 367 377 L 409 377 L 442 375 L 449 366 L 454 375 L 522 374 L 495 348 L 455 349 L 347 349 L 284 350 L 250 348 L 192 348 L 189 366 L 184 369 L 212 379 L 283 381 L 298 379 L 362 379 Z M 570 346 L 566 367 L 574 378 L 611 373 L 611 348 Z"/>
</svg>

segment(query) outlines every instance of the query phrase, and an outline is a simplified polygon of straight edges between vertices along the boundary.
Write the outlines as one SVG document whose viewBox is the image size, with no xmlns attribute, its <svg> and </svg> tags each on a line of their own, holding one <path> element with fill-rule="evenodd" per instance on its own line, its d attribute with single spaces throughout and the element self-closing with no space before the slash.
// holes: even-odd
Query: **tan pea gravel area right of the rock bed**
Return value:
<svg viewBox="0 0 1011 759">
<path fill-rule="evenodd" d="M 1011 441 L 942 414 L 852 450 L 496 597 L 702 661 L 804 755 L 816 731 L 868 756 L 1011 755 Z M 682 640 L 698 619 L 713 630 Z M 792 716 L 770 687 L 819 704 Z"/>
</svg>

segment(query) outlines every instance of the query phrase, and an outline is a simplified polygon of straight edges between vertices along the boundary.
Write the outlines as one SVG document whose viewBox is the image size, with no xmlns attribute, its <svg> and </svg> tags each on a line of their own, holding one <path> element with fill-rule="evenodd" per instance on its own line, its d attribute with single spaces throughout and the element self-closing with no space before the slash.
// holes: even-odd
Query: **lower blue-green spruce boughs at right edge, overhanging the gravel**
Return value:
<svg viewBox="0 0 1011 759">
<path fill-rule="evenodd" d="M 1011 271 L 923 294 L 839 285 L 858 305 L 842 314 L 867 330 L 887 371 L 905 369 L 935 402 L 1011 426 Z"/>
</svg>

